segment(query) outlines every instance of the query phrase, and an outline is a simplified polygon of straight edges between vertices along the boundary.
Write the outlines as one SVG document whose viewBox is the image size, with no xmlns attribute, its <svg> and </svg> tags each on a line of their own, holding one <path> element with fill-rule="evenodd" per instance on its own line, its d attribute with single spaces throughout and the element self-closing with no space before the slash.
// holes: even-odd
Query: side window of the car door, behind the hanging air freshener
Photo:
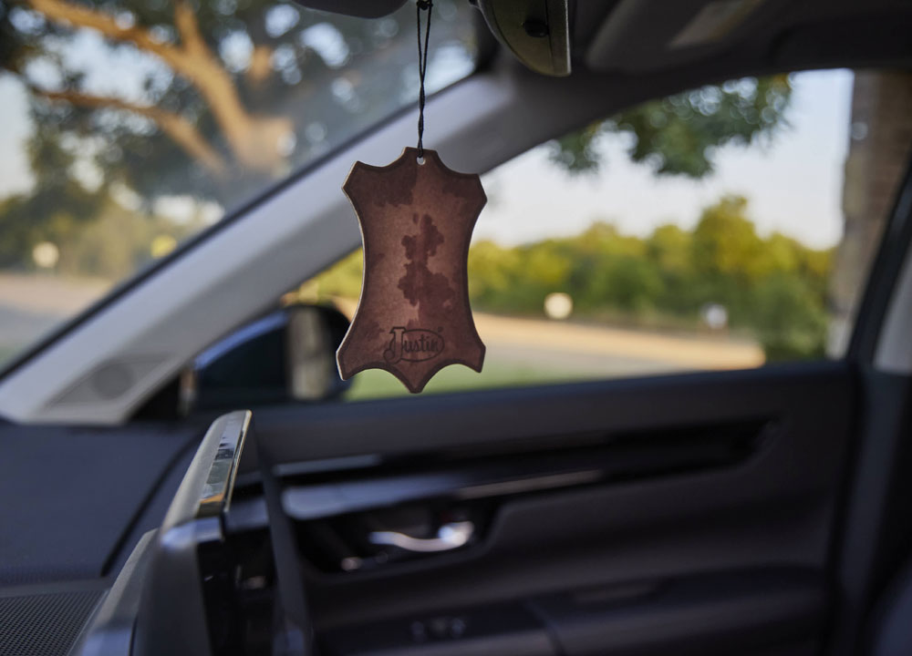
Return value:
<svg viewBox="0 0 912 656">
<path fill-rule="evenodd" d="M 731 80 L 490 171 L 469 253 L 484 369 L 426 392 L 840 357 L 909 155 L 908 80 Z M 358 251 L 298 296 L 350 315 L 360 275 Z M 399 394 L 374 370 L 347 397 Z"/>
</svg>

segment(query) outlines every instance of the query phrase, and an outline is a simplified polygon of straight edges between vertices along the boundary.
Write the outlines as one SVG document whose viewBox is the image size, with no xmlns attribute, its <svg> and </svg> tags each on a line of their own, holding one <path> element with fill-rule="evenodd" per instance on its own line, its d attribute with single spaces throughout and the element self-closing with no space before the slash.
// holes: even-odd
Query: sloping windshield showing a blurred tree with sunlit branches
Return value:
<svg viewBox="0 0 912 656">
<path fill-rule="evenodd" d="M 429 91 L 475 61 L 472 9 L 434 9 Z M 409 5 L 0 0 L 0 364 L 415 102 L 414 23 Z"/>
</svg>

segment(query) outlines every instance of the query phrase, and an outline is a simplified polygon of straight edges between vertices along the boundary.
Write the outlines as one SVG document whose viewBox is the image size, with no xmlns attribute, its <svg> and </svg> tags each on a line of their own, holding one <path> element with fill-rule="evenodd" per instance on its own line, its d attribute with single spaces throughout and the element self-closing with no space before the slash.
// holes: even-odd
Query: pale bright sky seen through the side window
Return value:
<svg viewBox="0 0 912 656">
<path fill-rule="evenodd" d="M 623 136 L 606 139 L 596 176 L 569 176 L 548 161 L 546 148 L 531 150 L 482 178 L 490 200 L 474 238 L 513 245 L 578 234 L 594 220 L 646 236 L 664 223 L 692 228 L 700 210 L 733 193 L 749 200 L 761 234 L 833 246 L 842 237 L 852 73 L 801 73 L 793 84 L 790 127 L 765 148 L 720 149 L 716 172 L 704 179 L 657 178 L 630 162 Z"/>
</svg>

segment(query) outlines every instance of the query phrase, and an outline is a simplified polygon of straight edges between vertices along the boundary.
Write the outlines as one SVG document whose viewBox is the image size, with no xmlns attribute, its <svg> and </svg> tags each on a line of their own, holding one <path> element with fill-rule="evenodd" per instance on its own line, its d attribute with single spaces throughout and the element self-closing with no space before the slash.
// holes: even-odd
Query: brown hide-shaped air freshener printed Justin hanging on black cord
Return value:
<svg viewBox="0 0 912 656">
<path fill-rule="evenodd" d="M 385 167 L 356 162 L 342 187 L 361 226 L 364 277 L 339 374 L 384 369 L 412 393 L 448 364 L 481 372 L 484 360 L 466 266 L 487 198 L 477 175 L 423 155 L 423 164 L 413 148 Z"/>
</svg>

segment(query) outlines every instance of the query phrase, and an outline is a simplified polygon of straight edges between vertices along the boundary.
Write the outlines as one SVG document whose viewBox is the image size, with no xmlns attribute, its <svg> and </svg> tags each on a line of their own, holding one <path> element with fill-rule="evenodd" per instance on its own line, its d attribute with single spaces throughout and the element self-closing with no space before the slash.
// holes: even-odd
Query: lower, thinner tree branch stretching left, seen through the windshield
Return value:
<svg viewBox="0 0 912 656">
<path fill-rule="evenodd" d="M 180 114 L 174 114 L 159 108 L 135 105 L 115 97 L 90 96 L 77 91 L 46 91 L 36 87 L 31 88 L 36 95 L 46 97 L 48 100 L 65 101 L 70 105 L 86 108 L 121 109 L 150 118 L 172 141 L 193 159 L 197 159 L 202 166 L 209 169 L 215 176 L 223 177 L 228 169 L 224 159 L 202 138 L 199 130 L 189 120 L 181 117 Z"/>
</svg>

